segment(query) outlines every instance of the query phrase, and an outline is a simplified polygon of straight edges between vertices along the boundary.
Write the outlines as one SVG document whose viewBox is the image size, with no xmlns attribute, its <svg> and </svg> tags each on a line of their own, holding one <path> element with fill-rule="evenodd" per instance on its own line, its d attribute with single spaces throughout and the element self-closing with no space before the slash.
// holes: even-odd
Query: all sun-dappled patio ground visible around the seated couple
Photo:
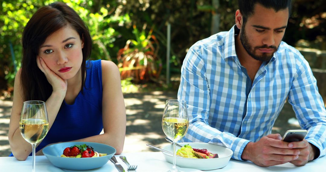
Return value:
<svg viewBox="0 0 326 172">
<path fill-rule="evenodd" d="M 124 98 L 127 114 L 124 152 L 156 151 L 146 146 L 147 143 L 157 147 L 169 144 L 165 140 L 161 120 L 165 101 L 177 98 L 177 92 L 125 93 Z M 8 130 L 11 106 L 12 101 L 0 100 L 0 156 L 10 154 Z M 295 116 L 292 107 L 286 103 L 272 132 L 283 135 L 288 129 L 299 129 L 298 125 L 288 123 L 288 120 L 293 117 Z"/>
</svg>

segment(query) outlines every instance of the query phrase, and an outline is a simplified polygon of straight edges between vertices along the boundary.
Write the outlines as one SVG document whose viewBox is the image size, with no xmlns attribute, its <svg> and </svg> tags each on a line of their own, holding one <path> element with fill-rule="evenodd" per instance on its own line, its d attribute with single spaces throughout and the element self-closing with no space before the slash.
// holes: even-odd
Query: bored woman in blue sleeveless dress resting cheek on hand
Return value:
<svg viewBox="0 0 326 172">
<path fill-rule="evenodd" d="M 103 143 L 122 152 L 126 110 L 120 73 L 110 61 L 86 61 L 91 45 L 86 24 L 64 3 L 40 8 L 26 24 L 8 133 L 18 160 L 32 152 L 19 130 L 22 105 L 28 100 L 45 101 L 48 111 L 49 132 L 36 155 L 47 145 L 67 141 Z"/>
</svg>

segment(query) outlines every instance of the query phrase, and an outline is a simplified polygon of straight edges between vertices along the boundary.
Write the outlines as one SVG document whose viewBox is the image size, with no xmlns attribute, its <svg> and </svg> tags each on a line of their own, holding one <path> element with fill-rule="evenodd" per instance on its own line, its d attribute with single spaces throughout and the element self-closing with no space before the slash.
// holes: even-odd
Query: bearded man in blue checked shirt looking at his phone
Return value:
<svg viewBox="0 0 326 172">
<path fill-rule="evenodd" d="M 185 142 L 230 148 L 233 159 L 259 166 L 305 165 L 326 154 L 326 110 L 300 54 L 282 42 L 290 0 L 239 0 L 236 25 L 194 44 L 181 69 L 178 99 L 187 102 Z M 270 134 L 286 99 L 303 141 Z"/>
</svg>

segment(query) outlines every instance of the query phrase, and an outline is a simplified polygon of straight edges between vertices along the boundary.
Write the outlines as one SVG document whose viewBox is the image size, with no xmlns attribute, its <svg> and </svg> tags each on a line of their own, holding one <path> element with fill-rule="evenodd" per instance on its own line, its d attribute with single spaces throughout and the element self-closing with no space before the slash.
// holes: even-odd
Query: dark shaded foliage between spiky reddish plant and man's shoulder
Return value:
<svg viewBox="0 0 326 172">
<path fill-rule="evenodd" d="M 234 25 L 237 1 L 219 1 L 220 31 L 228 31 Z M 140 28 L 144 23 L 155 25 L 153 35 L 162 48 L 158 57 L 165 67 L 167 23 L 171 24 L 171 71 L 180 72 L 187 50 L 197 41 L 211 35 L 212 0 L 128 0 L 121 6 L 121 14 L 129 13 L 131 21 Z M 164 72 L 164 70 L 163 70 Z"/>
</svg>

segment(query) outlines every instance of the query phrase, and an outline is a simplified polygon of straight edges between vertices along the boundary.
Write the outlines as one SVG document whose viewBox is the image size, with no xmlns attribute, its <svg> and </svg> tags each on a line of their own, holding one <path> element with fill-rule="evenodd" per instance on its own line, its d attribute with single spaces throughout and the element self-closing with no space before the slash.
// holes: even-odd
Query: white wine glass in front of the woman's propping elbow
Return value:
<svg viewBox="0 0 326 172">
<path fill-rule="evenodd" d="M 48 113 L 46 111 L 45 102 L 43 101 L 26 101 L 22 107 L 21 118 L 19 121 L 19 129 L 22 137 L 33 148 L 33 167 L 35 172 L 35 148 L 49 131 Z"/>
</svg>

